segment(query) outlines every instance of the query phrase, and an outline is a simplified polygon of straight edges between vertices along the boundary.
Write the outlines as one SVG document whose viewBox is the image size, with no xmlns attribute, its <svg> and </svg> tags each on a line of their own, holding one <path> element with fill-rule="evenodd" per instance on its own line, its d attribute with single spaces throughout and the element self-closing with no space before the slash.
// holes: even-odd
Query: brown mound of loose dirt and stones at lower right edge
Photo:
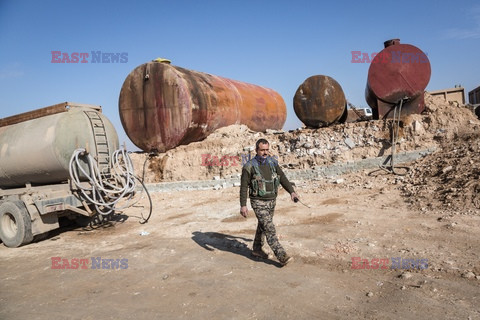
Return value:
<svg viewBox="0 0 480 320">
<path fill-rule="evenodd" d="M 423 212 L 480 214 L 480 134 L 444 139 L 434 154 L 416 161 L 403 194 Z"/>
</svg>

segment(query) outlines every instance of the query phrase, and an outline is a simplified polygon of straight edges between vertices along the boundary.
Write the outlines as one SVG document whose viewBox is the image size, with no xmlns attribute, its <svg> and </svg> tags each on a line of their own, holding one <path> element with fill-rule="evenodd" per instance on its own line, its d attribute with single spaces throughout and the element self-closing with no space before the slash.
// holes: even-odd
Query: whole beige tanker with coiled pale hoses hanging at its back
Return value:
<svg viewBox="0 0 480 320">
<path fill-rule="evenodd" d="M 133 167 L 100 106 L 63 102 L 0 119 L 0 240 L 19 247 L 135 193 Z"/>
</svg>

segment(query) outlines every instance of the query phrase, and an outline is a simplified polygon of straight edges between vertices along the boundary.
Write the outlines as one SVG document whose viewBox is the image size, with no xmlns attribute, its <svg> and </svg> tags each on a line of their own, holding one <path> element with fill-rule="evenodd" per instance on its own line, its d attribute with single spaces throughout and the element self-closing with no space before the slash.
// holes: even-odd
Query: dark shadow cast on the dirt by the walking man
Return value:
<svg viewBox="0 0 480 320">
<path fill-rule="evenodd" d="M 222 250 L 235 253 L 252 261 L 261 261 L 266 264 L 274 265 L 278 268 L 282 267 L 279 262 L 270 259 L 256 258 L 251 255 L 251 250 L 248 248 L 245 242 L 252 242 L 251 239 L 231 236 L 228 234 L 218 232 L 200 232 L 195 231 L 192 233 L 192 240 L 195 241 L 200 247 L 208 251 Z M 241 242 L 243 240 L 245 242 Z"/>
</svg>

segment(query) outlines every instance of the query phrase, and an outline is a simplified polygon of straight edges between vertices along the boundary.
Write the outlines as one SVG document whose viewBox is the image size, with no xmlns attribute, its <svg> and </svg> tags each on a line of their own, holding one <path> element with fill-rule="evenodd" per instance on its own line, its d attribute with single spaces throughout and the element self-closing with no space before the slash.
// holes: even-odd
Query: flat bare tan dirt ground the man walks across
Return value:
<svg viewBox="0 0 480 320">
<path fill-rule="evenodd" d="M 295 258 L 283 268 L 250 257 L 256 219 L 239 215 L 239 188 L 156 193 L 147 224 L 142 200 L 109 227 L 0 246 L 0 319 L 480 319 L 480 216 L 415 209 L 399 177 L 368 173 L 297 183 L 311 208 L 281 190 L 275 223 Z M 92 257 L 128 265 L 92 269 Z M 355 257 L 389 268 L 353 269 Z"/>
</svg>

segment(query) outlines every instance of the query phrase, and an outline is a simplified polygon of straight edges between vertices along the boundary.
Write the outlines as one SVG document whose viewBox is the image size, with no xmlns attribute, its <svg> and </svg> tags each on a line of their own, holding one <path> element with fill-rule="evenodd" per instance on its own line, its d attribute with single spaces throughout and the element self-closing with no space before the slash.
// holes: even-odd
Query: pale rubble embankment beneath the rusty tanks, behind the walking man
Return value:
<svg viewBox="0 0 480 320">
<path fill-rule="evenodd" d="M 438 147 L 443 140 L 463 132 L 478 131 L 480 121 L 472 111 L 457 103 L 425 94 L 424 114 L 402 117 L 397 152 Z M 151 157 L 145 181 L 211 180 L 231 178 L 242 164 L 255 156 L 255 142 L 270 142 L 272 156 L 286 168 L 313 169 L 333 163 L 390 154 L 391 120 L 333 125 L 320 129 L 254 132 L 244 125 L 220 128 L 206 139 Z M 132 155 L 136 172 L 142 175 L 148 155 Z"/>
</svg>

